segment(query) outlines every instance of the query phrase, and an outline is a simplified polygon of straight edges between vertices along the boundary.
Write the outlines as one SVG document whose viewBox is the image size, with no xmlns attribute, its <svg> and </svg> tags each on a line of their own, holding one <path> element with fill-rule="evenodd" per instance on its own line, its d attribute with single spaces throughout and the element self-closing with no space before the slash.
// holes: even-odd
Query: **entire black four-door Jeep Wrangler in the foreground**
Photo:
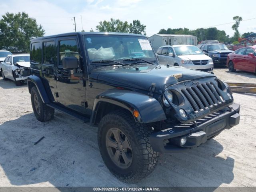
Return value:
<svg viewBox="0 0 256 192">
<path fill-rule="evenodd" d="M 36 118 L 54 110 L 98 126 L 109 170 L 138 182 L 158 153 L 198 147 L 239 123 L 228 85 L 214 74 L 160 65 L 148 38 L 77 32 L 36 38 L 28 89 Z"/>
</svg>

